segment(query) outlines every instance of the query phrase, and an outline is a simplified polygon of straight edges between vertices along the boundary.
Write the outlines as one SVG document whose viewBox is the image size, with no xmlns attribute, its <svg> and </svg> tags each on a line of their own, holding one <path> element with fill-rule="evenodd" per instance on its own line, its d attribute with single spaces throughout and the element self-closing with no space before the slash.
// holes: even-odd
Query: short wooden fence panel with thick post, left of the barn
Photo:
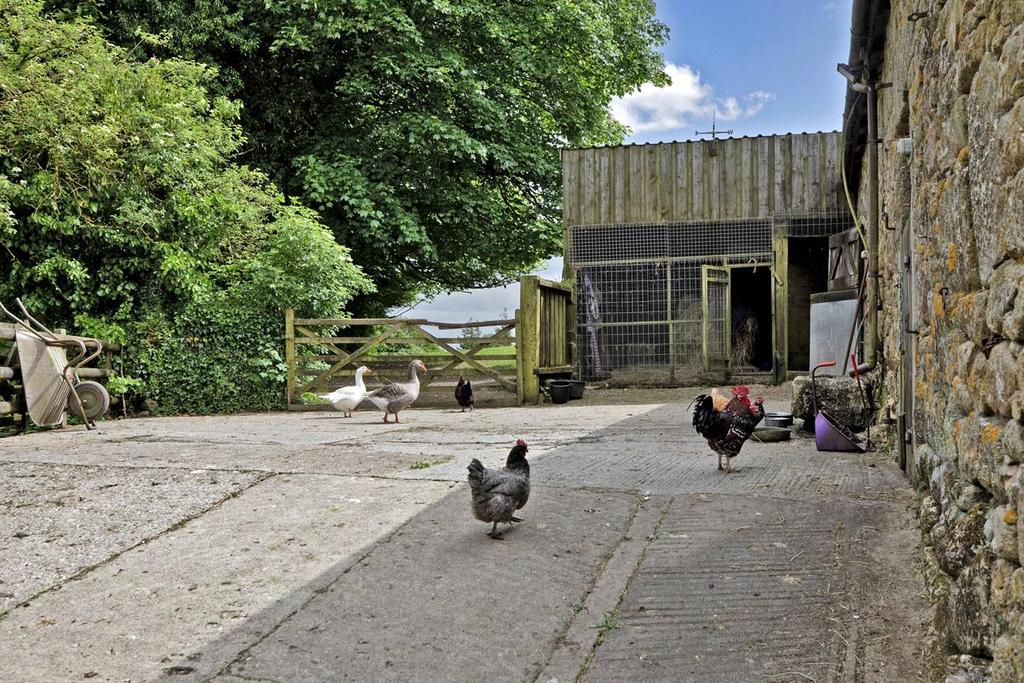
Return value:
<svg viewBox="0 0 1024 683">
<path fill-rule="evenodd" d="M 546 377 L 570 377 L 575 359 L 572 288 L 527 275 L 519 281 L 519 402 L 536 402 Z"/>
</svg>

